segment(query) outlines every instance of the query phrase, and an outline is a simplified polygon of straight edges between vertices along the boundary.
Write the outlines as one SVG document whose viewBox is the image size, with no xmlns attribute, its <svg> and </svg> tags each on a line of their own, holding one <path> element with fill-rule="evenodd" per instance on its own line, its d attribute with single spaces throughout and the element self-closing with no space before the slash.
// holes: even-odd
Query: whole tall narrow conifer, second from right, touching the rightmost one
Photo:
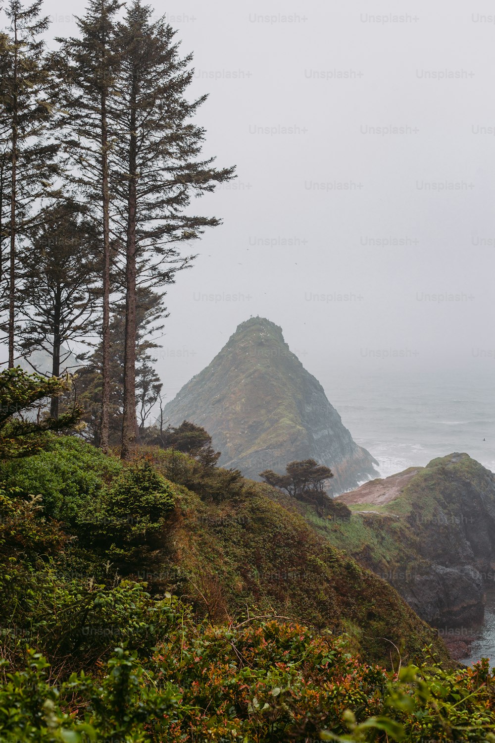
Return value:
<svg viewBox="0 0 495 743">
<path fill-rule="evenodd" d="M 99 444 L 108 450 L 111 408 L 111 192 L 109 155 L 114 134 L 109 129 L 108 106 L 114 94 L 119 58 L 115 36 L 118 0 L 90 0 L 88 10 L 76 19 L 79 37 L 59 39 L 59 66 L 65 78 L 65 117 L 62 146 L 68 156 L 68 177 L 91 204 L 102 239 L 100 282 L 101 409 Z"/>
</svg>

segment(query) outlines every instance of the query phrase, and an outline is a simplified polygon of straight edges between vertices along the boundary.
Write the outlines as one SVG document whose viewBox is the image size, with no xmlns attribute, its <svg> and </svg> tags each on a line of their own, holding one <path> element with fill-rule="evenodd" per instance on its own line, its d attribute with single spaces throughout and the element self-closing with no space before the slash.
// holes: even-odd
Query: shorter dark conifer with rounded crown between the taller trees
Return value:
<svg viewBox="0 0 495 743">
<path fill-rule="evenodd" d="M 33 351 L 43 351 L 53 377 L 73 365 L 71 342 L 94 333 L 95 253 L 94 224 L 71 200 L 45 212 L 22 253 L 22 348 L 30 363 Z M 50 415 L 59 416 L 58 395 L 51 400 Z"/>
</svg>

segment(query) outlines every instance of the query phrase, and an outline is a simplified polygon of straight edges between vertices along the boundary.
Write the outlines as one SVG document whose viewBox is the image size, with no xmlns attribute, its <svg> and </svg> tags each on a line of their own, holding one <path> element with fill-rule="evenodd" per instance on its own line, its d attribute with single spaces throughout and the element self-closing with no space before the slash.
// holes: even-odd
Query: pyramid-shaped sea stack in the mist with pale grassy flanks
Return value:
<svg viewBox="0 0 495 743">
<path fill-rule="evenodd" d="M 204 426 L 223 467 L 258 478 L 312 457 L 331 467 L 335 493 L 376 476 L 377 462 L 358 447 L 318 380 L 260 317 L 238 326 L 209 366 L 165 406 L 165 419 Z"/>
</svg>

